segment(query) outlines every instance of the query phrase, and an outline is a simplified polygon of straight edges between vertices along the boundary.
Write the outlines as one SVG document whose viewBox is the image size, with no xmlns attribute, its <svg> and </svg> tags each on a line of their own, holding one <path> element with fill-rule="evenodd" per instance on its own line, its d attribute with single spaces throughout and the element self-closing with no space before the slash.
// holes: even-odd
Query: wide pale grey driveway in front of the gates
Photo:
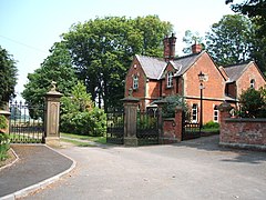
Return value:
<svg viewBox="0 0 266 200">
<path fill-rule="evenodd" d="M 24 199 L 266 199 L 266 153 L 224 149 L 217 136 L 173 146 L 71 147 L 76 168 Z"/>
</svg>

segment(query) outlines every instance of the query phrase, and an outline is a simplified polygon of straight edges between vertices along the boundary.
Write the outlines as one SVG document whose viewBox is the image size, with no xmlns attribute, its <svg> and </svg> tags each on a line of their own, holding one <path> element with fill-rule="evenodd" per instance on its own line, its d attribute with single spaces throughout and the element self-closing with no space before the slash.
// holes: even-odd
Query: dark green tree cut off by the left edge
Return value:
<svg viewBox="0 0 266 200">
<path fill-rule="evenodd" d="M 16 97 L 17 72 L 12 56 L 0 46 L 0 108 Z"/>
</svg>

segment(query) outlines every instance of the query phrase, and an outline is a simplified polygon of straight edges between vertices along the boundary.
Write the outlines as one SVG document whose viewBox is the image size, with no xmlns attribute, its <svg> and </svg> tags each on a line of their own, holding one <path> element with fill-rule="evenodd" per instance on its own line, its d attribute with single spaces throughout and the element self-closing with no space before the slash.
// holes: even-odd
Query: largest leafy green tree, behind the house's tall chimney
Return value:
<svg viewBox="0 0 266 200">
<path fill-rule="evenodd" d="M 64 33 L 79 79 L 99 107 L 120 104 L 124 78 L 136 53 L 162 56 L 162 38 L 172 30 L 156 16 L 105 17 L 78 23 Z"/>
</svg>

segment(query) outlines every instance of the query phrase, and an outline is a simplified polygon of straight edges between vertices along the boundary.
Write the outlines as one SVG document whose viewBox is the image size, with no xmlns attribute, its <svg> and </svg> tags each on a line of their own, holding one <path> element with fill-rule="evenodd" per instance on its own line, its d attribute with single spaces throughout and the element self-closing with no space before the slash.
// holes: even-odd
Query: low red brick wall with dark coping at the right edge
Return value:
<svg viewBox="0 0 266 200">
<path fill-rule="evenodd" d="M 225 118 L 221 123 L 219 144 L 266 150 L 266 119 Z"/>
</svg>

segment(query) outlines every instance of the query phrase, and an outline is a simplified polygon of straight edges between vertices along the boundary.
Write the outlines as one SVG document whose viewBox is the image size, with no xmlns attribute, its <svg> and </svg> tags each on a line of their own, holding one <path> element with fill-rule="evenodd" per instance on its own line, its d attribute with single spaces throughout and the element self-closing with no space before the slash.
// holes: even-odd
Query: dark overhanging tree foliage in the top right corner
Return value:
<svg viewBox="0 0 266 200">
<path fill-rule="evenodd" d="M 232 3 L 234 0 L 226 0 L 225 2 Z M 245 0 L 242 3 L 232 4 L 232 10 L 247 16 L 255 24 L 255 48 L 252 57 L 266 74 L 266 1 Z"/>
</svg>

